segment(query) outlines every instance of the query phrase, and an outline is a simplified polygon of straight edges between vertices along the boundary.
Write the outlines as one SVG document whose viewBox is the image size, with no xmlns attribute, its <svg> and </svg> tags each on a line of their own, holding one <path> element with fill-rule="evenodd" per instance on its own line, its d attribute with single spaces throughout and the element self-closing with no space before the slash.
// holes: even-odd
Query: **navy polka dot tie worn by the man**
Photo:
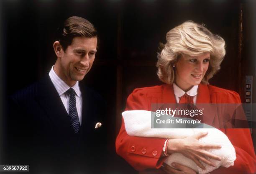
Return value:
<svg viewBox="0 0 256 174">
<path fill-rule="evenodd" d="M 78 133 L 80 130 L 80 123 L 79 123 L 79 118 L 77 114 L 76 93 L 73 88 L 69 88 L 69 90 L 67 90 L 67 93 L 70 95 L 69 117 L 71 119 L 71 122 L 74 128 L 74 133 Z"/>
</svg>

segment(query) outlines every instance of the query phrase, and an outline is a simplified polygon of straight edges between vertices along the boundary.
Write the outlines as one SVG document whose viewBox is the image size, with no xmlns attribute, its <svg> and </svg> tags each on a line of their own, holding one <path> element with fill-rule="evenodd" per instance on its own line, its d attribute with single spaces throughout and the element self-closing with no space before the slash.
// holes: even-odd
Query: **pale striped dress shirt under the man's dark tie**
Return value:
<svg viewBox="0 0 256 174">
<path fill-rule="evenodd" d="M 61 101 L 67 110 L 67 113 L 69 114 L 69 94 L 66 94 L 65 92 L 70 88 L 69 85 L 67 85 L 59 76 L 54 72 L 53 69 L 54 66 L 51 67 L 51 71 L 49 72 L 49 76 L 51 78 L 51 82 L 54 84 L 55 89 L 59 93 L 59 97 L 61 98 Z M 77 104 L 77 113 L 80 125 L 82 123 L 82 95 L 81 91 L 79 89 L 78 81 L 74 86 L 72 86 L 74 91 L 76 92 L 76 104 Z"/>
</svg>

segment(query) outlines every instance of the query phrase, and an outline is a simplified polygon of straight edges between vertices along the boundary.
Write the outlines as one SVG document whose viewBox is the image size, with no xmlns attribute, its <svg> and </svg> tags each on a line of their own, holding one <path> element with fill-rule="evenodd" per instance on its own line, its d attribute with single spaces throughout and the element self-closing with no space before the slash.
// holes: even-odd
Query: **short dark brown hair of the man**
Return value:
<svg viewBox="0 0 256 174">
<path fill-rule="evenodd" d="M 72 16 L 64 21 L 63 25 L 58 28 L 56 40 L 59 41 L 64 51 L 72 44 L 74 37 L 97 37 L 97 30 L 88 20 Z"/>
</svg>

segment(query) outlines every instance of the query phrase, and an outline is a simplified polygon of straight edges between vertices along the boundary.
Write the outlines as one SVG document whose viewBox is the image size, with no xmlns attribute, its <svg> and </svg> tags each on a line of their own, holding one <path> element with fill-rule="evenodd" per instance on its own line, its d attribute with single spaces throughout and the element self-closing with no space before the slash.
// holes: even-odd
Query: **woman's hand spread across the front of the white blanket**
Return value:
<svg viewBox="0 0 256 174">
<path fill-rule="evenodd" d="M 206 149 L 221 148 L 219 145 L 200 143 L 198 140 L 207 135 L 206 133 L 197 133 L 193 136 L 182 139 L 170 139 L 168 142 L 167 153 L 180 153 L 189 159 L 192 159 L 197 166 L 205 170 L 205 167 L 200 163 L 199 160 L 203 161 L 205 164 L 215 167 L 215 165 L 207 160 L 208 158 L 221 160 L 219 156 L 210 154 Z"/>
</svg>

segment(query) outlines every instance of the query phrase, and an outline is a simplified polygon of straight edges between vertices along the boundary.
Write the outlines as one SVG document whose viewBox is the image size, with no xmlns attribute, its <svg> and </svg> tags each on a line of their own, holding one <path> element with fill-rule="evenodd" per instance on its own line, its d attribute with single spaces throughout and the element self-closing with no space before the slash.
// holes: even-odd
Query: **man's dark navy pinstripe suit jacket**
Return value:
<svg viewBox="0 0 256 174">
<path fill-rule="evenodd" d="M 73 164 L 87 169 L 103 159 L 104 153 L 95 151 L 104 152 L 106 147 L 102 118 L 105 105 L 100 95 L 90 88 L 80 86 L 80 89 L 83 105 L 78 135 L 74 134 L 69 115 L 48 75 L 12 95 L 5 119 L 5 163 L 30 164 L 35 171 L 41 171 L 42 165 L 49 170 L 66 166 L 67 171 Z M 97 122 L 103 126 L 95 129 Z"/>
</svg>

